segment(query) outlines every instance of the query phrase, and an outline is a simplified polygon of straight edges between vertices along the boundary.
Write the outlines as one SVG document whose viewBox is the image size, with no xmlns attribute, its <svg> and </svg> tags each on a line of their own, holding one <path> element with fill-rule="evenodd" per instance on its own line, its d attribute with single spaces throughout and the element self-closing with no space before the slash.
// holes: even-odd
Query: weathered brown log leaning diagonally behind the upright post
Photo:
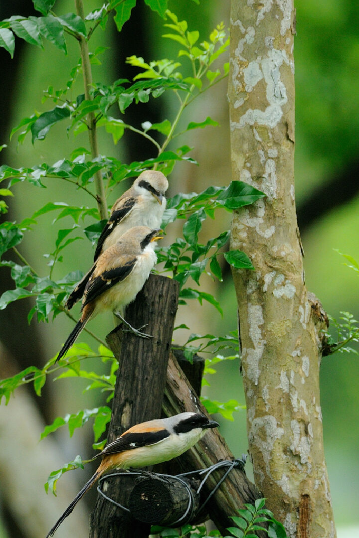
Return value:
<svg viewBox="0 0 359 538">
<path fill-rule="evenodd" d="M 184 411 L 207 414 L 173 353 L 170 354 L 168 360 L 163 411 L 166 416 Z M 243 440 L 243 449 L 246 445 L 247 440 Z M 187 450 L 185 454 L 177 458 L 175 463 L 178 464 L 178 470 L 176 469 L 175 472 L 206 469 L 223 459 L 233 460 L 234 455 L 216 429 L 208 430 L 206 435 L 191 450 Z M 172 468 L 174 469 L 174 466 Z M 208 478 L 203 492 L 205 497 L 214 489 L 222 476 L 223 471 L 216 471 Z M 238 508 L 243 508 L 245 502 L 254 503 L 255 499 L 259 497 L 261 497 L 261 492 L 248 480 L 245 472 L 236 467 L 210 499 L 206 508 L 210 514 L 210 519 L 226 535 L 226 527 L 233 526 L 230 516 L 235 515 Z"/>
</svg>

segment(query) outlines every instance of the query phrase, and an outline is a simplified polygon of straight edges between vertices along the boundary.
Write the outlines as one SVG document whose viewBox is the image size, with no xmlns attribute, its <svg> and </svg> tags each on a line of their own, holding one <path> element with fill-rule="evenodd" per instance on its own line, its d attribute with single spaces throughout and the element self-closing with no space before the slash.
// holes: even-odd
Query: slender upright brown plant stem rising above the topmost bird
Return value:
<svg viewBox="0 0 359 538">
<path fill-rule="evenodd" d="M 83 2 L 82 0 L 75 0 L 76 13 L 82 19 L 85 19 L 85 13 L 83 11 Z M 87 101 L 91 100 L 90 97 L 90 87 L 92 84 L 92 73 L 91 73 L 91 64 L 88 51 L 88 44 L 85 37 L 80 36 L 79 39 L 80 50 L 81 50 L 81 63 L 82 63 L 82 74 L 83 74 L 83 85 L 85 87 L 85 99 Z M 88 138 L 90 142 L 91 157 L 95 159 L 98 157 L 98 144 L 97 144 L 97 133 L 96 133 L 96 122 L 94 112 L 89 112 L 87 115 L 88 123 Z M 96 187 L 96 199 L 98 206 L 98 213 L 100 213 L 100 218 L 108 218 L 107 213 L 107 202 L 105 191 L 103 187 L 103 181 L 100 170 L 95 173 L 95 187 Z"/>
</svg>

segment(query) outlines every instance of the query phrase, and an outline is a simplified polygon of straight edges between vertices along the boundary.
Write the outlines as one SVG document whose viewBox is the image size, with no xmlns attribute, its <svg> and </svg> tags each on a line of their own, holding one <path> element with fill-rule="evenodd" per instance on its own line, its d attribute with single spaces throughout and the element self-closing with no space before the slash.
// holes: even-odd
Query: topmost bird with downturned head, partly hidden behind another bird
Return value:
<svg viewBox="0 0 359 538">
<path fill-rule="evenodd" d="M 94 261 L 110 246 L 114 245 L 124 232 L 132 226 L 149 226 L 160 228 L 166 208 L 165 192 L 168 181 L 162 172 L 145 170 L 116 200 L 111 208 L 111 216 L 97 241 Z M 74 291 L 69 295 L 65 307 L 70 310 L 79 301 L 85 291 L 89 273 L 83 277 Z"/>
</svg>

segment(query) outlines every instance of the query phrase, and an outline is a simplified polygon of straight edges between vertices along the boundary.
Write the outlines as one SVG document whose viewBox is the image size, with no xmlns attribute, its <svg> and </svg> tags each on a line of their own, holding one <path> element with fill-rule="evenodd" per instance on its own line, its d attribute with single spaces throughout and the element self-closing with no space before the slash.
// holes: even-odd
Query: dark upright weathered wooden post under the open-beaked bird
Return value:
<svg viewBox="0 0 359 538">
<path fill-rule="evenodd" d="M 107 342 L 119 362 L 108 442 L 134 424 L 161 416 L 177 305 L 178 282 L 151 274 L 135 302 L 126 309 L 125 318 L 132 327 L 146 325 L 144 332 L 153 338 L 139 338 L 119 327 L 108 335 Z M 127 504 L 128 491 L 118 480 L 105 481 L 103 490 L 108 497 Z M 90 538 L 148 535 L 149 525 L 133 520 L 99 495 L 91 514 Z"/>
</svg>

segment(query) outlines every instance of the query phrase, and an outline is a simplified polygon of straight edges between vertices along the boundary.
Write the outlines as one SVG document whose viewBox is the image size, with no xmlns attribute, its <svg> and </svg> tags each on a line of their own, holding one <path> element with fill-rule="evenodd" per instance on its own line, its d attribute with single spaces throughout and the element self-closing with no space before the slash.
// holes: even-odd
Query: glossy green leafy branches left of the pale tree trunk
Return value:
<svg viewBox="0 0 359 538">
<path fill-rule="evenodd" d="M 197 1 L 197 0 L 194 0 Z M 24 39 L 27 43 L 44 47 L 44 40 L 50 41 L 55 47 L 67 53 L 67 39 L 75 38 L 80 43 L 90 43 L 91 36 L 98 27 L 105 29 L 109 16 L 113 16 L 117 29 L 121 31 L 125 22 L 131 15 L 136 0 L 110 0 L 100 9 L 88 13 L 81 18 L 79 13 L 65 13 L 58 15 L 55 12 L 55 0 L 33 0 L 39 11 L 38 17 L 12 16 L 0 22 L 0 46 L 4 47 L 13 56 L 15 51 L 14 36 Z M 44 140 L 54 125 L 66 125 L 68 136 L 76 137 L 79 133 L 87 131 L 91 151 L 85 147 L 74 148 L 71 155 L 54 164 L 47 162 L 32 167 L 13 168 L 8 165 L 0 167 L 0 194 L 3 197 L 13 195 L 13 186 L 20 182 L 30 183 L 33 187 L 46 188 L 48 182 L 71 183 L 75 189 L 81 189 L 86 194 L 89 205 L 69 206 L 61 201 L 51 201 L 40 207 L 33 215 L 22 222 L 4 222 L 0 225 L 0 266 L 11 271 L 14 288 L 9 289 L 0 297 L 0 309 L 5 309 L 11 302 L 20 299 L 32 299 L 28 320 L 34 315 L 38 321 L 48 322 L 60 313 L 64 313 L 76 321 L 63 305 L 73 286 L 82 274 L 73 271 L 62 274 L 61 262 L 67 254 L 67 247 L 79 239 L 87 238 L 94 245 L 105 223 L 101 214 L 100 198 L 96 187 L 97 179 L 102 181 L 105 193 L 108 195 L 119 182 L 126 178 L 137 176 L 145 169 L 157 169 L 168 175 L 178 163 L 197 165 L 189 155 L 191 148 L 186 145 L 177 147 L 175 139 L 182 133 L 194 129 L 213 128 L 217 122 L 209 116 L 195 118 L 183 129 L 180 128 L 180 118 L 185 108 L 201 96 L 214 84 L 227 76 L 229 65 L 213 68 L 213 64 L 227 51 L 229 38 L 223 23 L 216 26 L 207 40 L 200 41 L 197 30 L 189 30 L 185 20 L 178 20 L 177 16 L 167 10 L 167 0 L 145 0 L 145 3 L 161 17 L 166 19 L 165 39 L 178 44 L 177 59 L 160 59 L 145 61 L 137 56 L 130 56 L 127 61 L 137 70 L 133 80 L 118 79 L 112 84 L 101 82 L 85 84 L 87 91 L 76 95 L 72 94 L 74 82 L 81 70 L 86 78 L 86 61 L 95 65 L 100 60 L 98 56 L 104 51 L 98 47 L 90 52 L 88 58 L 82 56 L 81 60 L 72 68 L 65 87 L 55 89 L 50 86 L 44 91 L 43 101 L 49 104 L 48 110 L 35 112 L 23 118 L 12 129 L 10 137 L 17 136 L 18 144 L 22 144 L 26 137 L 31 136 L 32 144 Z M 83 53 L 83 48 L 81 49 Z M 179 61 L 180 59 L 180 61 Z M 182 60 L 186 65 L 182 65 Z M 188 76 L 188 63 L 191 76 Z M 173 118 L 164 117 L 162 121 L 152 124 L 144 121 L 141 128 L 126 121 L 126 111 L 130 106 L 138 103 L 147 103 L 159 98 L 164 92 L 175 94 L 178 109 Z M 86 94 L 86 95 L 85 95 Z M 96 130 L 104 128 L 111 134 L 114 144 L 125 135 L 127 130 L 135 132 L 139 137 L 150 140 L 156 156 L 144 158 L 130 163 L 123 162 L 109 155 L 96 154 L 91 140 L 96 136 Z M 182 129 L 182 130 L 181 130 Z M 171 146 L 171 148 L 168 148 Z M 96 179 L 96 181 L 95 181 Z M 214 218 L 217 210 L 234 211 L 254 203 L 264 196 L 255 188 L 243 182 L 231 182 L 228 187 L 208 187 L 202 193 L 179 193 L 168 201 L 164 215 L 163 227 L 181 219 L 183 237 L 177 238 L 170 246 L 162 247 L 158 251 L 158 260 L 164 272 L 171 273 L 172 277 L 180 282 L 180 303 L 186 304 L 189 299 L 196 299 L 200 303 L 207 301 L 221 314 L 222 308 L 211 294 L 195 289 L 193 284 L 189 287 L 189 279 L 200 286 L 200 278 L 207 273 L 217 280 L 222 280 L 221 256 L 229 264 L 243 270 L 252 270 L 254 267 L 247 255 L 240 251 L 223 252 L 229 239 L 229 231 L 225 230 L 219 236 L 200 242 L 202 226 L 206 224 L 207 217 Z M 103 200 L 107 208 L 107 200 Z M 7 205 L 0 204 L 0 211 L 6 213 Z M 51 252 L 44 253 L 47 260 L 48 273 L 38 274 L 27 260 L 18 251 L 17 247 L 27 240 L 34 226 L 41 223 L 41 217 L 51 213 L 54 215 L 54 237 Z M 66 221 L 63 221 L 63 219 Z M 89 221 L 89 222 L 85 222 Z M 66 222 L 66 224 L 62 224 Z M 68 224 L 70 222 L 70 224 Z M 8 258 L 12 250 L 17 254 L 18 262 Z M 60 278 L 55 277 L 60 274 Z M 77 343 L 72 346 L 59 363 L 55 357 L 45 364 L 43 369 L 30 366 L 15 376 L 0 381 L 0 400 L 4 398 L 7 403 L 11 394 L 17 387 L 24 384 L 33 384 L 34 391 L 40 396 L 41 389 L 46 382 L 48 374 L 55 373 L 56 380 L 65 378 L 81 378 L 88 380 L 85 391 L 99 390 L 107 396 L 107 402 L 114 394 L 115 376 L 118 367 L 117 360 L 110 350 L 101 342 L 98 336 L 93 335 L 101 343 L 98 351 L 93 351 L 87 344 Z M 201 341 L 201 343 L 199 343 Z M 185 352 L 188 358 L 195 351 L 210 351 L 214 358 L 208 359 L 206 373 L 213 373 L 213 365 L 224 357 L 219 355 L 220 350 L 237 348 L 235 334 L 226 337 L 214 335 L 192 334 L 186 343 Z M 234 358 L 235 355 L 227 357 Z M 107 373 L 88 371 L 81 367 L 84 359 L 97 358 L 100 366 L 105 363 Z M 61 370 L 61 372 L 59 371 Z M 205 381 L 208 384 L 208 381 Z M 213 412 L 222 413 L 231 419 L 234 410 L 241 408 L 235 400 L 222 403 L 203 400 L 207 408 Z M 67 426 L 69 435 L 75 429 L 82 427 L 88 421 L 93 421 L 94 449 L 101 449 L 105 440 L 101 439 L 108 422 L 110 421 L 110 408 L 106 405 L 93 409 L 80 409 L 76 413 L 69 413 L 65 417 L 57 417 L 47 426 L 41 438 L 53 433 L 57 429 Z M 57 480 L 68 470 L 83 467 L 81 456 L 69 462 L 61 469 L 53 471 L 45 484 L 46 491 L 56 492 Z"/>
</svg>

